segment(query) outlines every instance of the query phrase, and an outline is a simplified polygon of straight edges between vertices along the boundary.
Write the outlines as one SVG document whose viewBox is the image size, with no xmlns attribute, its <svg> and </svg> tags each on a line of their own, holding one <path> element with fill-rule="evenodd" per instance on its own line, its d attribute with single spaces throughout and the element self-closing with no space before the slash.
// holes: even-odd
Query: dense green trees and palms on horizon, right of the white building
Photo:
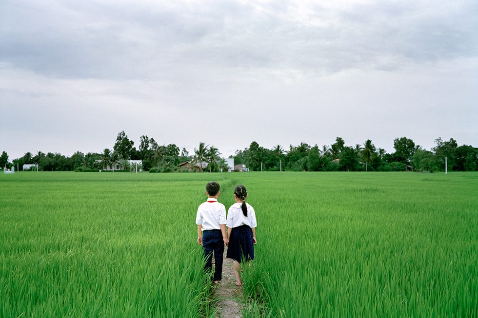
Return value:
<svg viewBox="0 0 478 318">
<path fill-rule="evenodd" d="M 407 137 L 394 140 L 395 152 L 377 148 L 370 139 L 363 144 L 346 146 L 341 137 L 332 145 L 310 146 L 300 143 L 284 150 L 273 149 L 252 142 L 249 148 L 235 153 L 235 163 L 244 163 L 250 169 L 277 171 L 443 171 L 447 157 L 450 171 L 475 171 L 478 167 L 478 148 L 462 145 L 451 138 L 435 140 L 432 150 L 425 150 Z"/>
</svg>

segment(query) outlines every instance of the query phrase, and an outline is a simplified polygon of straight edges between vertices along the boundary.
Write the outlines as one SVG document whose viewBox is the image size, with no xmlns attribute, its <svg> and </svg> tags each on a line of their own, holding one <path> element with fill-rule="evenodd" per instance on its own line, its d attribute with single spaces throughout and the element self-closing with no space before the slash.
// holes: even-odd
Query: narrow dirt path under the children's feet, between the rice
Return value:
<svg viewBox="0 0 478 318">
<path fill-rule="evenodd" d="M 242 318 L 240 299 L 242 288 L 234 284 L 236 276 L 232 267 L 232 260 L 226 258 L 227 246 L 224 250 L 222 263 L 222 281 L 217 285 L 216 298 L 218 299 L 217 318 Z"/>
</svg>

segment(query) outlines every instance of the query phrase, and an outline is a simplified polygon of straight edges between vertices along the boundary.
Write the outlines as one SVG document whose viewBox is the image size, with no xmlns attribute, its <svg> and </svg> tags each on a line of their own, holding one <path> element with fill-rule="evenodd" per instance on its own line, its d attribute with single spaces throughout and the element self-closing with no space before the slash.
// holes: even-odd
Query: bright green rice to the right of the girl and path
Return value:
<svg viewBox="0 0 478 318">
<path fill-rule="evenodd" d="M 246 301 L 264 317 L 478 317 L 477 177 L 241 175 L 258 218 Z"/>
</svg>

